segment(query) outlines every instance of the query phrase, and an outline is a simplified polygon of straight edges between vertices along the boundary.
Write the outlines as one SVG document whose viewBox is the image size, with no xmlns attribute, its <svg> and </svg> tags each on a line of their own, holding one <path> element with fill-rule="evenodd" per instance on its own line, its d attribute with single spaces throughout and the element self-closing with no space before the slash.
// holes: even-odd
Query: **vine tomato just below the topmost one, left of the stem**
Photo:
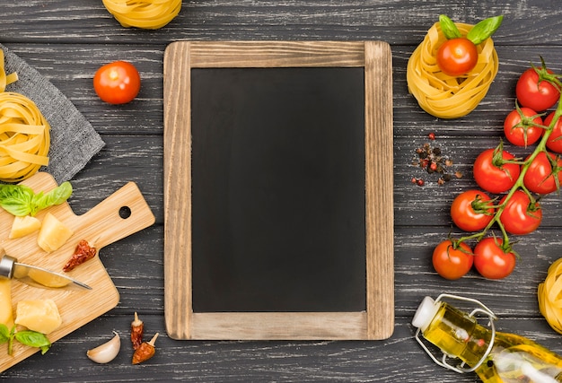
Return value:
<svg viewBox="0 0 562 383">
<path fill-rule="evenodd" d="M 521 108 L 521 113 L 523 118 L 532 118 L 531 124 L 526 124 L 519 110 L 512 110 L 504 121 L 504 133 L 505 138 L 510 143 L 517 146 L 527 146 L 532 145 L 539 141 L 540 135 L 542 135 L 543 129 L 540 127 L 542 125 L 542 118 L 531 108 Z"/>
</svg>

